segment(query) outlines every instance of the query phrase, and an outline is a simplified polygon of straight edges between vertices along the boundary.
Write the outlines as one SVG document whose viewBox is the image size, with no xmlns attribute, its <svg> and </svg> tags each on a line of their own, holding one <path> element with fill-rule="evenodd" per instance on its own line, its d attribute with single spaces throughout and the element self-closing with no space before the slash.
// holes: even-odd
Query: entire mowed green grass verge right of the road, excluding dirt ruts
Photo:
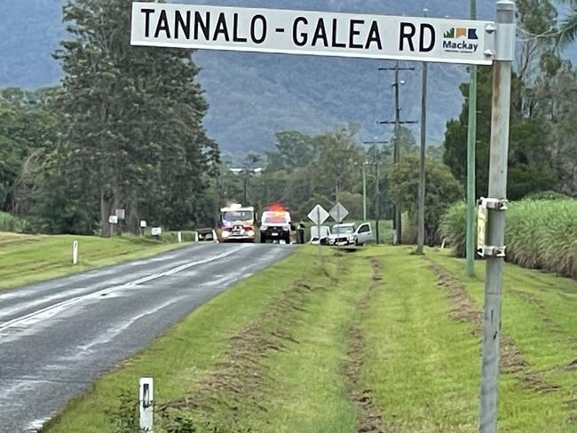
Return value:
<svg viewBox="0 0 577 433">
<path fill-rule="evenodd" d="M 261 374 L 261 368 L 265 374 L 256 394 L 221 401 L 210 413 L 192 410 L 194 420 L 209 419 L 221 428 L 216 431 L 232 433 L 356 431 L 360 413 L 348 398 L 350 382 L 344 376 L 354 323 L 363 337 L 360 387 L 384 426 L 399 433 L 476 432 L 479 336 L 471 333 L 470 322 L 450 317 L 454 305 L 438 287 L 428 260 L 459 279 L 479 310 L 482 279 L 466 279 L 462 261 L 444 253 L 428 249 L 428 258 L 423 258 L 412 256 L 413 249 L 370 247 L 336 256 L 323 248 L 323 271 L 316 262 L 317 249 L 301 248 L 194 311 L 103 377 L 94 390 L 73 400 L 43 431 L 115 431 L 107 413 L 119 405 L 122 390 L 136 393 L 140 376 L 154 377 L 161 405 L 206 392 L 202 383 L 227 358 L 231 336 L 249 324 L 267 326 L 274 300 L 287 287 L 305 281 L 319 289 L 306 295 L 303 308 L 281 315 L 279 326 L 296 342 L 258 359 L 255 374 Z M 369 258 L 379 264 L 382 281 L 372 280 Z M 371 286 L 369 301 L 360 308 Z M 518 345 L 526 369 L 501 375 L 499 431 L 577 432 L 577 374 L 571 368 L 577 358 L 576 303 L 575 281 L 505 267 L 503 332 Z M 519 374 L 536 374 L 558 389 L 535 390 L 520 381 Z M 247 410 L 254 401 L 265 410 Z M 201 433 L 215 431 L 203 426 L 198 425 Z"/>
</svg>

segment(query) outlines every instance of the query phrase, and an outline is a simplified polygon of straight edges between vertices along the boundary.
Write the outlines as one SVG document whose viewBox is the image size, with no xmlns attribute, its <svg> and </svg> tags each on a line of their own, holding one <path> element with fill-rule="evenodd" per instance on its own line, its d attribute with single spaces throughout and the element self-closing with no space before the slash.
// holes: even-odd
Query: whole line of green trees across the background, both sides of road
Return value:
<svg viewBox="0 0 577 433">
<path fill-rule="evenodd" d="M 557 26 L 548 0 L 517 5 L 509 197 L 549 190 L 575 196 L 577 75 L 559 55 L 574 26 Z M 364 172 L 368 218 L 391 218 L 399 203 L 412 240 L 418 158 L 410 130 L 396 130 L 386 144 L 363 143 L 355 124 L 316 135 L 283 130 L 271 151 L 221 161 L 202 125 L 208 105 L 190 51 L 131 47 L 126 2 L 75 0 L 64 20 L 69 37 L 53 55 L 64 71 L 61 85 L 0 91 L 0 210 L 25 217 L 28 230 L 108 235 L 116 209 L 125 209 L 132 232 L 141 219 L 168 228 L 212 225 L 219 207 L 244 201 L 245 186 L 244 204 L 258 209 L 281 203 L 304 220 L 317 203 L 340 201 L 360 219 Z M 480 68 L 478 197 L 488 180 L 491 80 L 490 68 Z M 443 146 L 428 147 L 429 243 L 437 240 L 444 210 L 464 198 L 466 84 L 462 114 L 447 122 Z M 393 167 L 395 143 L 401 161 Z M 239 167 L 236 176 L 231 169 Z M 252 171 L 257 167 L 264 168 L 260 176 Z"/>
</svg>

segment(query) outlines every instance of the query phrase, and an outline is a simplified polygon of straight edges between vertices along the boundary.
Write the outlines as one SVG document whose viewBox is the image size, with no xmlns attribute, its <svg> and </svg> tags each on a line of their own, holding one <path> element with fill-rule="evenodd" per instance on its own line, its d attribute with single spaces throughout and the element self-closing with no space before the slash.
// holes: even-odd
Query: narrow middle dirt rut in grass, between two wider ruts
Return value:
<svg viewBox="0 0 577 433">
<path fill-rule="evenodd" d="M 373 283 L 368 287 L 367 293 L 357 304 L 357 310 L 362 311 L 370 304 L 371 293 L 382 284 L 383 275 L 379 262 L 375 257 L 369 258 L 373 270 Z M 371 398 L 372 391 L 365 389 L 360 382 L 363 367 L 364 339 L 360 328 L 359 319 L 355 319 L 348 333 L 347 359 L 343 366 L 343 374 L 348 385 L 349 400 L 357 406 L 357 432 L 363 433 L 392 433 L 399 430 L 387 426 L 383 421 L 379 409 Z"/>
</svg>

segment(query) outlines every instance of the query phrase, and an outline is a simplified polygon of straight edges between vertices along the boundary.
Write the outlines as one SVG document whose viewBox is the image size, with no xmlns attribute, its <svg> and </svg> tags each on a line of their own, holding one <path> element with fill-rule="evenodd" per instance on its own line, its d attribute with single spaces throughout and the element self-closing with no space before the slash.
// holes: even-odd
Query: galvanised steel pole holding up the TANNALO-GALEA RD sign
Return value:
<svg viewBox="0 0 577 433">
<path fill-rule="evenodd" d="M 489 164 L 489 209 L 485 307 L 483 312 L 483 361 L 479 433 L 497 431 L 499 344 L 501 341 L 502 267 L 505 258 L 507 163 L 510 133 L 511 65 L 515 53 L 515 3 L 497 2 L 496 52 L 493 66 L 493 113 Z"/>
</svg>

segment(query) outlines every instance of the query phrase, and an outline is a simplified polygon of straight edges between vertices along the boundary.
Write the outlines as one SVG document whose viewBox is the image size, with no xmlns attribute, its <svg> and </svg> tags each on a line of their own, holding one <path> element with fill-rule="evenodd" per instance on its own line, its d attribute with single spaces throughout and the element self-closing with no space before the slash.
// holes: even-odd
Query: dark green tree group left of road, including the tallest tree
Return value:
<svg viewBox="0 0 577 433">
<path fill-rule="evenodd" d="M 2 209 L 30 230 L 105 236 L 116 209 L 131 232 L 210 218 L 219 150 L 190 51 L 130 46 L 127 2 L 76 0 L 64 21 L 61 85 L 0 93 Z"/>
</svg>

